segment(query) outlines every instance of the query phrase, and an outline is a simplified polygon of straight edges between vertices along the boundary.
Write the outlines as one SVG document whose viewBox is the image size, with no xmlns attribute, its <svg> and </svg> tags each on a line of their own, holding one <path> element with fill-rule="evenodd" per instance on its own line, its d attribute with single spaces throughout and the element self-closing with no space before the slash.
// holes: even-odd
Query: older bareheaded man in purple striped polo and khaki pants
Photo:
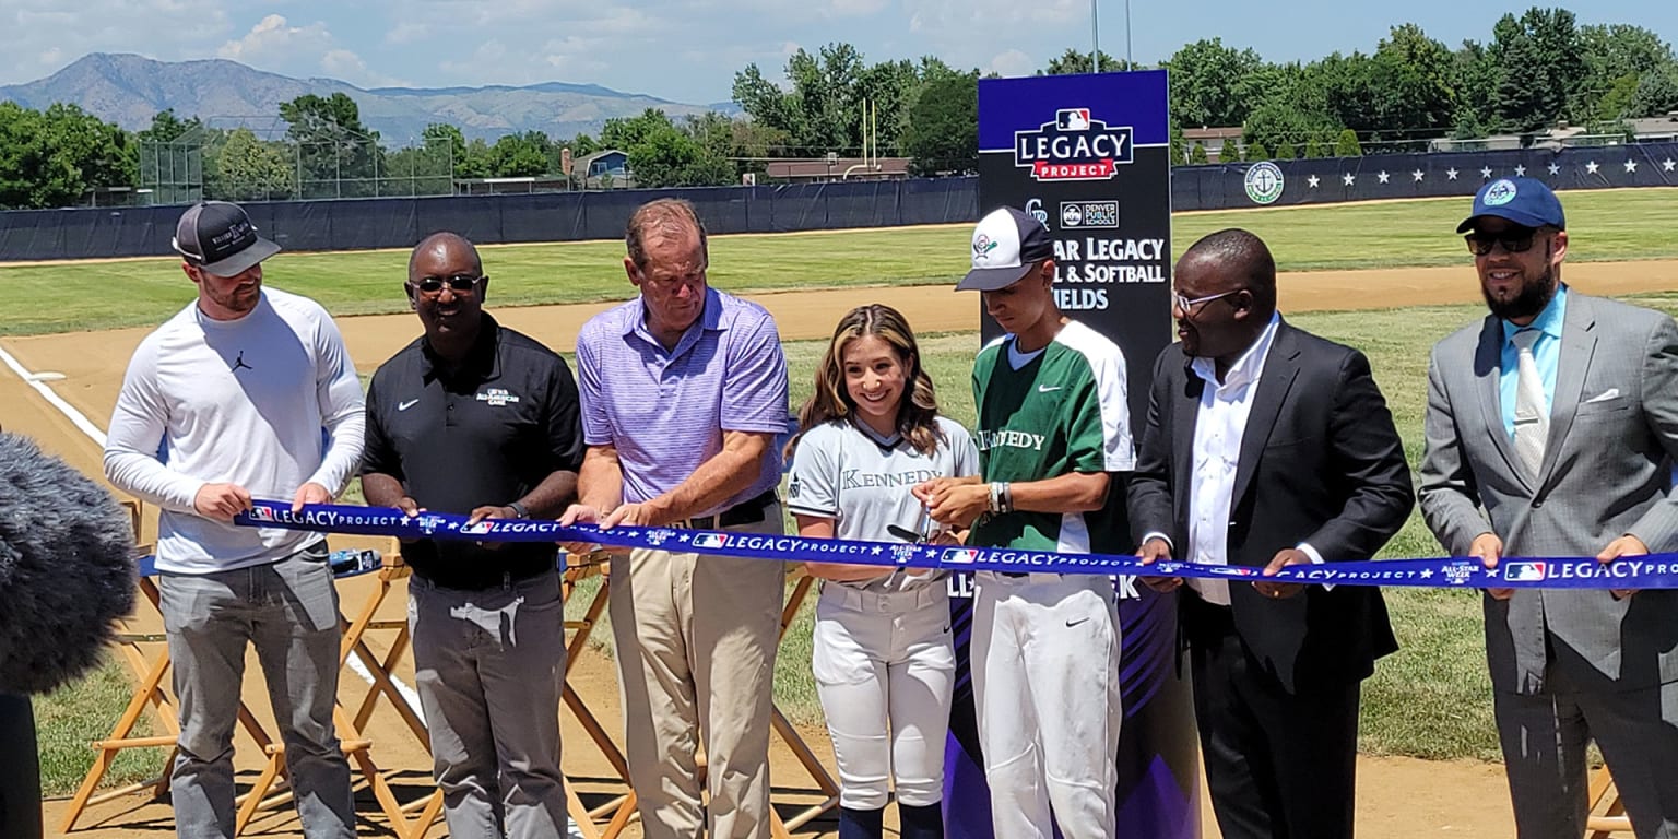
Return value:
<svg viewBox="0 0 1678 839">
<path fill-rule="evenodd" d="M 639 297 L 577 334 L 589 448 L 581 503 L 562 522 L 780 534 L 775 436 L 787 426 L 787 362 L 775 322 L 706 287 L 705 225 L 690 203 L 643 205 L 626 240 Z M 769 837 L 780 562 L 636 549 L 614 557 L 611 574 L 644 836 Z"/>
</svg>

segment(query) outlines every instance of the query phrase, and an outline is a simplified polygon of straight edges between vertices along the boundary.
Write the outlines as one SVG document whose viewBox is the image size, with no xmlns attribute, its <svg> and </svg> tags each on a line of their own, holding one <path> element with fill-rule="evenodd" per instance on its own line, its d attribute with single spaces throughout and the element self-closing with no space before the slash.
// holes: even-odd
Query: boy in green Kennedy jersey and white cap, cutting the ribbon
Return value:
<svg viewBox="0 0 1678 839">
<path fill-rule="evenodd" d="M 1002 208 L 973 232 L 978 290 L 1007 331 L 973 362 L 982 478 L 916 493 L 968 542 L 1129 552 L 1123 473 L 1134 468 L 1124 354 L 1054 299 L 1054 247 L 1035 218 Z M 1109 498 L 1116 502 L 1109 503 Z M 1111 837 L 1119 743 L 1119 623 L 1113 579 L 978 572 L 973 696 L 997 836 Z"/>
</svg>

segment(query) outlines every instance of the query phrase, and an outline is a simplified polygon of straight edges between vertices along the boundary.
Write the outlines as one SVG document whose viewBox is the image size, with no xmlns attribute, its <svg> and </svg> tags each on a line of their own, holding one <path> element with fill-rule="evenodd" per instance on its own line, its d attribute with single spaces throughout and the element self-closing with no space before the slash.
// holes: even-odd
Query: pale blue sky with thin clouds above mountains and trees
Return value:
<svg viewBox="0 0 1678 839">
<path fill-rule="evenodd" d="M 1101 45 L 1124 55 L 1126 5 L 1099 0 Z M 1420 23 L 1455 47 L 1487 40 L 1527 5 L 1411 0 L 1131 0 L 1133 55 L 1170 57 L 1222 37 L 1270 60 L 1373 50 L 1388 27 Z M 1636 23 L 1678 39 L 1678 2 L 1572 3 L 1584 23 Z M 799 47 L 856 44 L 869 60 L 938 55 L 956 67 L 1029 74 L 1066 47 L 1089 49 L 1089 0 L 7 0 L 0 84 L 32 81 L 87 52 L 163 60 L 235 59 L 362 87 L 545 81 L 602 84 L 683 102 L 730 96 L 747 62 L 780 77 Z"/>
</svg>

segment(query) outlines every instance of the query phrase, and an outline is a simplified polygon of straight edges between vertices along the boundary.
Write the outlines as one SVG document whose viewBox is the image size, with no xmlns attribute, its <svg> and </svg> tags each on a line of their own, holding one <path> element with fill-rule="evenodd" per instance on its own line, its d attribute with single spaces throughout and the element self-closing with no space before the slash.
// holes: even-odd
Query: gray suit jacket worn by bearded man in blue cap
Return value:
<svg viewBox="0 0 1678 839">
<path fill-rule="evenodd" d="M 1596 555 L 1631 534 L 1678 550 L 1678 326 L 1649 309 L 1567 292 L 1550 436 L 1537 482 L 1519 468 L 1498 396 L 1497 317 L 1433 347 L 1421 513 L 1453 555 L 1495 532 L 1510 557 Z M 1485 510 L 1485 515 L 1480 513 Z M 1490 519 L 1490 524 L 1487 524 Z M 1577 690 L 1678 680 L 1678 591 L 1524 589 L 1485 597 L 1492 686 L 1544 690 L 1554 663 Z"/>
</svg>

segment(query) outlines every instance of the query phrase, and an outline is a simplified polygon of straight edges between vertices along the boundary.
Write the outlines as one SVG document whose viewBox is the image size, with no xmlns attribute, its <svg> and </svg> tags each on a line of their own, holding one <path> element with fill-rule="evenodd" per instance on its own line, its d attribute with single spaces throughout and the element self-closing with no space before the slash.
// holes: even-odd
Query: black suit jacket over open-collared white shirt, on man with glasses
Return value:
<svg viewBox="0 0 1678 839">
<path fill-rule="evenodd" d="M 1133 535 L 1141 542 L 1149 532 L 1170 534 L 1180 557 L 1190 550 L 1191 446 L 1203 388 L 1180 346 L 1159 354 L 1129 483 Z M 1279 324 L 1242 435 L 1230 564 L 1264 567 L 1300 542 L 1327 562 L 1369 559 L 1411 507 L 1404 448 L 1369 361 Z M 1248 653 L 1290 691 L 1364 680 L 1376 658 L 1398 649 L 1386 604 L 1371 586 L 1307 586 L 1294 597 L 1267 599 L 1232 581 L 1230 609 Z M 1195 634 L 1193 626 L 1185 629 Z"/>
</svg>

